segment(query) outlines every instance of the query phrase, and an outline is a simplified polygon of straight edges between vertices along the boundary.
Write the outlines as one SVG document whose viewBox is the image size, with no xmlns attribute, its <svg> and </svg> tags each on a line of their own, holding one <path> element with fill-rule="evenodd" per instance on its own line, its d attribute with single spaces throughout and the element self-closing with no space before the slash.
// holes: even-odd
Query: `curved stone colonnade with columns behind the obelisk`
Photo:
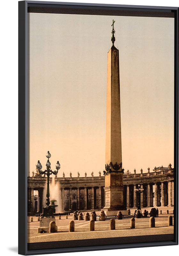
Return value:
<svg viewBox="0 0 179 256">
<path fill-rule="evenodd" d="M 52 178 L 50 178 L 50 182 Z M 28 177 L 28 215 L 43 212 L 46 205 L 47 178 L 40 174 Z M 105 177 L 55 178 L 59 187 L 61 212 L 69 210 L 99 210 L 105 206 Z M 129 173 L 123 175 L 123 198 L 127 208 L 136 208 L 135 188 L 144 188 L 141 194 L 141 207 L 174 205 L 174 169 L 155 168 L 153 172 Z M 55 198 L 56 199 L 56 198 Z M 57 202 L 59 204 L 59 202 Z"/>
</svg>

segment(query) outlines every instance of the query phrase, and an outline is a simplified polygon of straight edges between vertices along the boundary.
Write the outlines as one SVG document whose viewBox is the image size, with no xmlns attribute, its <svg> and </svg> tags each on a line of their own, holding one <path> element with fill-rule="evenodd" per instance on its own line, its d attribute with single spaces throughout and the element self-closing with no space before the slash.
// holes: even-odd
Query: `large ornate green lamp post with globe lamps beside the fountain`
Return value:
<svg viewBox="0 0 179 256">
<path fill-rule="evenodd" d="M 46 198 L 46 207 L 43 207 L 43 217 L 49 217 L 49 216 L 52 216 L 53 213 L 52 213 L 52 207 L 49 206 L 50 204 L 50 190 L 49 190 L 49 178 L 50 178 L 50 175 L 53 173 L 54 175 L 56 175 L 58 173 L 58 170 L 60 169 L 60 164 L 59 162 L 57 161 L 57 164 L 56 164 L 56 169 L 57 171 L 52 171 L 51 170 L 51 163 L 49 161 L 49 158 L 51 157 L 51 153 L 48 151 L 47 154 L 46 154 L 46 157 L 48 158 L 47 160 L 47 163 L 46 163 L 46 166 L 47 166 L 47 170 L 45 171 L 42 171 L 42 164 L 40 163 L 40 161 L 38 160 L 37 164 L 36 164 L 36 167 L 39 171 L 40 174 L 46 174 L 47 175 L 47 198 Z"/>
</svg>

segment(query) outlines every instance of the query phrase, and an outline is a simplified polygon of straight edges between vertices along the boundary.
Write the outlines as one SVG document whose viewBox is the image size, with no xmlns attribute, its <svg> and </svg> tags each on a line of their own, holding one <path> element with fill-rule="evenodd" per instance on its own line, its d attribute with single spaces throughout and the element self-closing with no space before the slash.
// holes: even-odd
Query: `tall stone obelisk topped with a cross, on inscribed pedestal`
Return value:
<svg viewBox="0 0 179 256">
<path fill-rule="evenodd" d="M 105 153 L 105 207 L 106 215 L 116 215 L 123 205 L 123 169 L 121 147 L 121 106 L 119 79 L 119 50 L 114 46 L 114 20 L 112 29 L 113 43 L 107 58 L 107 111 L 106 111 L 106 153 Z"/>
</svg>

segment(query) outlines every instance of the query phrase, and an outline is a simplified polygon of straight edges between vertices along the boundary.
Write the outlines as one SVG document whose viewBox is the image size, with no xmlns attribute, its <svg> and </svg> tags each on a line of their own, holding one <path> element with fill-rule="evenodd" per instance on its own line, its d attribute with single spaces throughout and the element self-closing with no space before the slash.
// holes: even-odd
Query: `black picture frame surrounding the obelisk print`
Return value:
<svg viewBox="0 0 179 256">
<path fill-rule="evenodd" d="M 78 241 L 72 243 L 72 246 L 63 248 L 49 249 L 54 246 L 54 242 L 45 243 L 45 248 L 40 249 L 36 246 L 33 250 L 27 249 L 27 150 L 28 150 L 28 74 L 27 74 L 27 12 L 28 8 L 35 12 L 43 10 L 42 12 L 56 12 L 59 8 L 64 9 L 65 13 L 82 14 L 88 10 L 95 10 L 97 14 L 109 15 L 110 13 L 122 13 L 122 15 L 136 16 L 143 15 L 159 15 L 166 17 L 166 13 L 174 15 L 175 18 L 175 124 L 174 124 L 174 146 L 175 146 L 175 208 L 174 208 L 174 240 L 161 241 L 161 242 L 135 242 L 127 244 L 117 244 L 115 239 L 108 238 L 108 242 L 102 243 L 100 239 L 96 241 L 96 245 L 81 246 Z M 95 250 L 109 250 L 109 249 L 123 249 L 123 248 L 139 248 L 163 245 L 177 245 L 178 244 L 178 29 L 179 29 L 179 16 L 178 7 L 162 7 L 162 6 L 137 6 L 137 5 L 115 5 L 115 4 L 81 4 L 81 3 L 64 3 L 64 2 L 43 2 L 43 1 L 19 1 L 19 254 L 34 255 L 34 254 L 47 254 L 47 253 L 62 253 L 62 252 L 82 252 L 82 251 L 95 251 Z M 118 14 L 120 15 L 120 14 Z M 163 15 L 163 16 L 162 16 Z M 164 235 L 161 235 L 164 236 Z M 83 240 L 84 242 L 84 240 Z M 39 244 L 39 243 L 38 243 Z M 57 242 L 56 242 L 57 244 Z M 85 243 L 83 243 L 85 244 Z M 100 245 L 101 244 L 101 245 Z M 60 247 L 60 246 L 59 246 Z"/>
</svg>

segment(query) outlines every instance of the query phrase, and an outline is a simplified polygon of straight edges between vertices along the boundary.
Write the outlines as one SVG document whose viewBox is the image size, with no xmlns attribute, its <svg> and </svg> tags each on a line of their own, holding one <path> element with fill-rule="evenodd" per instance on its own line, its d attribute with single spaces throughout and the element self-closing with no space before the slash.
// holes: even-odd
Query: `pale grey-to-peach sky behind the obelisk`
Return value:
<svg viewBox="0 0 179 256">
<path fill-rule="evenodd" d="M 107 52 L 120 55 L 125 172 L 174 164 L 174 18 L 28 13 L 29 170 L 105 168 Z"/>
</svg>

